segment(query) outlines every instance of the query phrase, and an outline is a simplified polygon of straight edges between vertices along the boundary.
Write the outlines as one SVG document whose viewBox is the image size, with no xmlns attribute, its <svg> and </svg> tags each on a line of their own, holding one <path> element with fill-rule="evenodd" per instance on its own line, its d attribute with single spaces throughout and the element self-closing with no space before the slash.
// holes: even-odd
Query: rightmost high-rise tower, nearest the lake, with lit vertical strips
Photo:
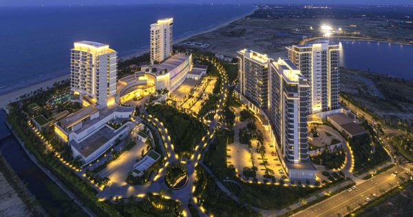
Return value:
<svg viewBox="0 0 413 217">
<path fill-rule="evenodd" d="M 319 41 L 287 50 L 290 61 L 310 84 L 308 114 L 339 109 L 339 45 Z"/>
</svg>

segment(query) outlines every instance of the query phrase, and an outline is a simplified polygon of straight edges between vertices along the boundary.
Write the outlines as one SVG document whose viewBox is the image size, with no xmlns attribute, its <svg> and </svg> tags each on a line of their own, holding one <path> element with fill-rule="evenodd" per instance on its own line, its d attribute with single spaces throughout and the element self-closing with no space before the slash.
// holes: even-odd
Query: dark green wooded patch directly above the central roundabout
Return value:
<svg viewBox="0 0 413 217">
<path fill-rule="evenodd" d="M 177 154 L 190 157 L 202 136 L 206 134 L 204 125 L 189 114 L 179 112 L 168 105 L 150 105 L 149 114 L 156 116 L 167 127 Z"/>
</svg>

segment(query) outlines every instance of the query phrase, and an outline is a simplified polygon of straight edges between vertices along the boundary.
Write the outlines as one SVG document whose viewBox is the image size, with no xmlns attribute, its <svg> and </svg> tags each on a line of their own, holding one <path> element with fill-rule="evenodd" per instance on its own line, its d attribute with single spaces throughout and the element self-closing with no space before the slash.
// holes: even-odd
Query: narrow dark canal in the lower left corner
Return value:
<svg viewBox="0 0 413 217">
<path fill-rule="evenodd" d="M 6 113 L 0 110 L 0 150 L 14 172 L 23 180 L 50 216 L 86 216 L 39 167 L 25 154 L 19 141 L 4 123 Z"/>
</svg>

